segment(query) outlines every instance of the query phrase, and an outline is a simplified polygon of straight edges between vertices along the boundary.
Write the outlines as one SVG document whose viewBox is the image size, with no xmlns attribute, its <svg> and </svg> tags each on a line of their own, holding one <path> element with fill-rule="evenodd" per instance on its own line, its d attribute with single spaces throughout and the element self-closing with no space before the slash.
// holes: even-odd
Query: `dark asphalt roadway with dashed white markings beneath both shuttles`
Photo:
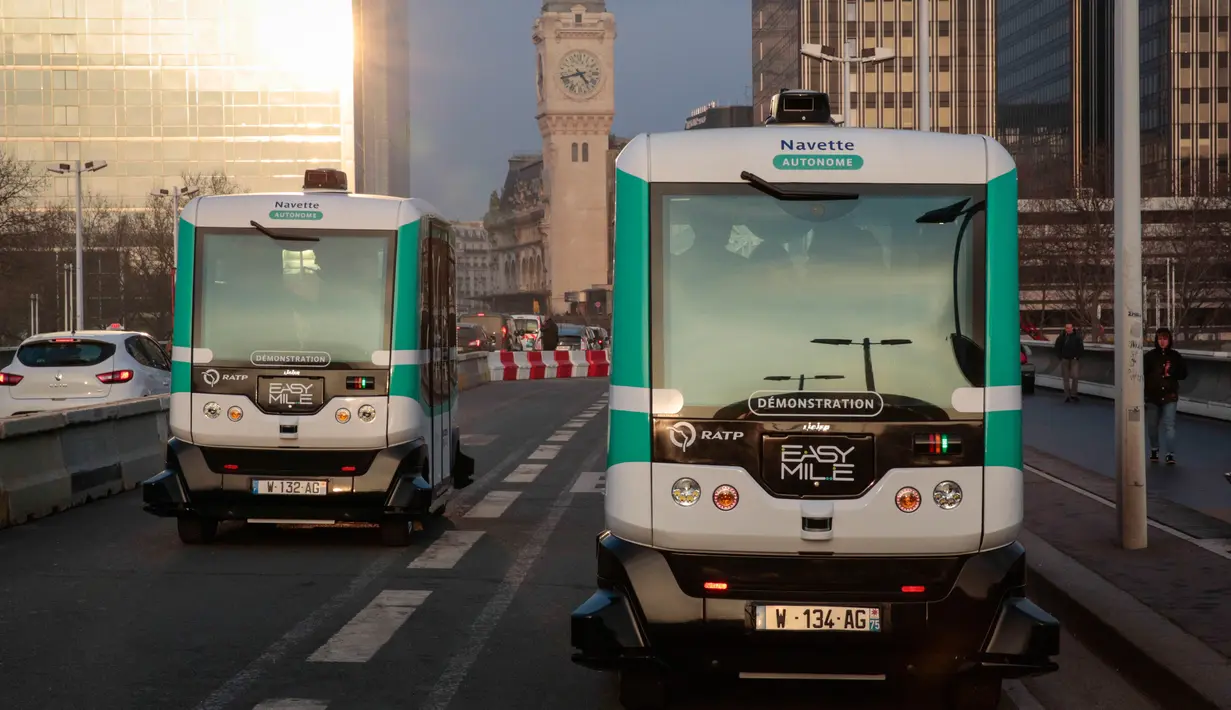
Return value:
<svg viewBox="0 0 1231 710">
<path fill-rule="evenodd" d="M 569 661 L 603 518 L 606 385 L 465 393 L 487 474 L 409 549 L 373 528 L 243 525 L 187 548 L 137 493 L 0 532 L 0 705 L 618 709 L 609 676 Z M 1060 662 L 1002 708 L 1153 708 L 1071 637 Z M 865 683 L 692 690 L 682 708 L 899 706 Z"/>
</svg>

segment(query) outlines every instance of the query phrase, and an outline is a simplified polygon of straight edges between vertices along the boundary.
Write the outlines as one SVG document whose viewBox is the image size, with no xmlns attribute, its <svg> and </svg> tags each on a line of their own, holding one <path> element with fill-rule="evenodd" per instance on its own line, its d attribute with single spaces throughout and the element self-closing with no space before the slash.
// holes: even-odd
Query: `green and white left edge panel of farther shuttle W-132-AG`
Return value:
<svg viewBox="0 0 1231 710">
<path fill-rule="evenodd" d="M 176 241 L 175 321 L 171 330 L 171 436 L 192 443 L 192 290 L 196 273 L 197 228 L 190 217 L 196 201 L 183 209 Z"/>
</svg>

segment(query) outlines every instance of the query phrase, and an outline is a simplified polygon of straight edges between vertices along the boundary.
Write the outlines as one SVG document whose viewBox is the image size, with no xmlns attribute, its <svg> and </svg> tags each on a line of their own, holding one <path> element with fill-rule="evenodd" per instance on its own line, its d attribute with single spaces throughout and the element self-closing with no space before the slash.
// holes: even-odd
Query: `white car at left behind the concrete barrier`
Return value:
<svg viewBox="0 0 1231 710">
<path fill-rule="evenodd" d="M 143 332 L 82 330 L 22 341 L 0 370 L 0 418 L 171 391 L 171 361 Z"/>
</svg>

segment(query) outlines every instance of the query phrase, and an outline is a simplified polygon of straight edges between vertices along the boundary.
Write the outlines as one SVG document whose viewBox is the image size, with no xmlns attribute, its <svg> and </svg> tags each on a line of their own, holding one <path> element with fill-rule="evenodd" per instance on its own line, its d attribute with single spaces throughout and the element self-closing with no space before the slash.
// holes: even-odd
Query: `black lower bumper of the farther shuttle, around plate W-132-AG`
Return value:
<svg viewBox="0 0 1231 710">
<path fill-rule="evenodd" d="M 145 512 L 159 517 L 374 523 L 389 516 L 428 514 L 448 486 L 437 486 L 433 495 L 422 475 L 425 461 L 422 443 L 415 443 L 377 452 L 371 464 L 353 475 L 321 475 L 311 470 L 219 473 L 207 463 L 201 448 L 171 439 L 166 468 L 142 482 L 142 501 Z M 473 459 L 458 453 L 454 487 L 469 485 L 473 469 Z M 330 481 L 330 492 L 324 496 L 263 496 L 251 489 L 254 479 L 321 477 Z"/>
</svg>

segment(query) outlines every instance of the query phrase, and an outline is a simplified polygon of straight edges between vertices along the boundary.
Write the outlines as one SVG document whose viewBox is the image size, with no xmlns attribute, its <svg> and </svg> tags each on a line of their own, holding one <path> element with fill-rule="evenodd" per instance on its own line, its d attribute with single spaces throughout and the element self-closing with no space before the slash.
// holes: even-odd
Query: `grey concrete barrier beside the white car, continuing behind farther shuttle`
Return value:
<svg viewBox="0 0 1231 710">
<path fill-rule="evenodd" d="M 458 356 L 458 386 L 489 381 L 487 353 Z M 0 420 L 0 528 L 135 489 L 166 461 L 170 395 Z"/>
</svg>

